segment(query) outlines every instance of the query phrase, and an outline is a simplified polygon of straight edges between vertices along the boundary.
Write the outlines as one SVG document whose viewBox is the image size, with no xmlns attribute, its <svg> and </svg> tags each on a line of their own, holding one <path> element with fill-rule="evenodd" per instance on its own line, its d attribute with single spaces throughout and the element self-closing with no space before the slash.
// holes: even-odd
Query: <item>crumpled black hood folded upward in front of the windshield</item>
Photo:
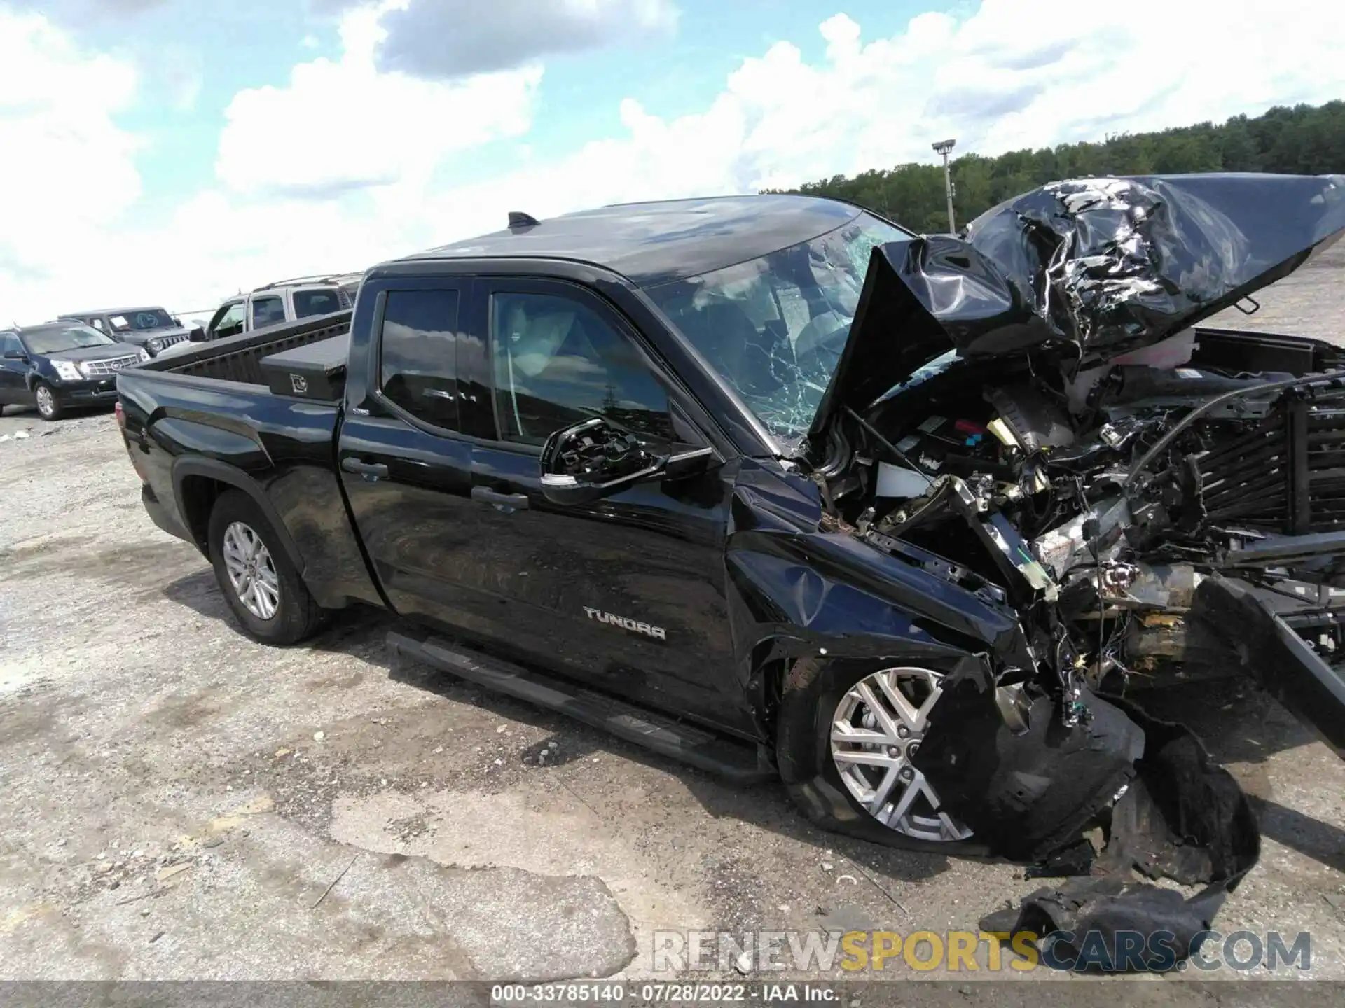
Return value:
<svg viewBox="0 0 1345 1008">
<path fill-rule="evenodd" d="M 1342 231 L 1341 175 L 1166 175 L 1054 181 L 986 211 L 966 238 L 880 246 L 811 433 L 950 349 L 1057 348 L 1087 363 L 1158 343 Z"/>
</svg>

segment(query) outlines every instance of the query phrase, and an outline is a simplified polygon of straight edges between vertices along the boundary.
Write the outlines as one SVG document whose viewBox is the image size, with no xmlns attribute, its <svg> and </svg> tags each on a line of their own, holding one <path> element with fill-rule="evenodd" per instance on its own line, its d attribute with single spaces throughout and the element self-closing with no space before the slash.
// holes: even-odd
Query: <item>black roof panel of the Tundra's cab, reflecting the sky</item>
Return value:
<svg viewBox="0 0 1345 1008">
<path fill-rule="evenodd" d="M 638 286 L 654 286 L 810 241 L 861 212 L 849 203 L 776 194 L 620 203 L 468 238 L 398 262 L 558 258 L 605 266 Z"/>
</svg>

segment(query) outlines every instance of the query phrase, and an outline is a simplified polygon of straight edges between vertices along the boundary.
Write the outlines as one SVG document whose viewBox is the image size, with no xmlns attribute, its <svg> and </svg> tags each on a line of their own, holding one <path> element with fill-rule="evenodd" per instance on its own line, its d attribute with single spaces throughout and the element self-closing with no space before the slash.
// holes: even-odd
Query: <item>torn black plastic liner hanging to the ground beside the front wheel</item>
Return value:
<svg viewBox="0 0 1345 1008">
<path fill-rule="evenodd" d="M 1075 876 L 981 929 L 1006 941 L 1028 933 L 1042 961 L 1063 969 L 1165 970 L 1197 952 L 1260 856 L 1247 796 L 1200 741 L 1087 691 L 1077 724 L 1040 691 L 1025 719 L 1005 719 L 997 692 L 1006 687 L 971 665 L 944 687 L 913 761 L 943 810 L 1003 856 L 1032 863 L 1028 878 Z M 1106 829 L 1100 852 L 1084 836 L 1095 825 Z M 1204 888 L 1188 899 L 1146 879 Z"/>
</svg>

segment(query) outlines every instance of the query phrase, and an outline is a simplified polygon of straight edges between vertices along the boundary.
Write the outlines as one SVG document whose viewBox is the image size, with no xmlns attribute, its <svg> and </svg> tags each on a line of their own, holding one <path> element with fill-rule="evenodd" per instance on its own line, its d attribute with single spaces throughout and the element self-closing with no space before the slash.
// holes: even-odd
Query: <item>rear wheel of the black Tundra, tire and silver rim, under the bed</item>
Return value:
<svg viewBox="0 0 1345 1008">
<path fill-rule="evenodd" d="M 321 628 L 327 610 L 313 601 L 276 530 L 246 493 L 227 491 L 215 501 L 207 546 L 219 590 L 249 637 L 288 646 Z"/>
</svg>

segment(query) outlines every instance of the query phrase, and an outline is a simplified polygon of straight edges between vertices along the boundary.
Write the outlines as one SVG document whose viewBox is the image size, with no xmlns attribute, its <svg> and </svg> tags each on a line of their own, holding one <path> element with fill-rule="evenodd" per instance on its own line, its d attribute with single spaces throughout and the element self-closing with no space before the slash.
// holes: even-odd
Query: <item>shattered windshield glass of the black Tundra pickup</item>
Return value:
<svg viewBox="0 0 1345 1008">
<path fill-rule="evenodd" d="M 779 438 L 803 437 L 841 360 L 874 246 L 868 214 L 808 242 L 646 293 Z"/>
</svg>

